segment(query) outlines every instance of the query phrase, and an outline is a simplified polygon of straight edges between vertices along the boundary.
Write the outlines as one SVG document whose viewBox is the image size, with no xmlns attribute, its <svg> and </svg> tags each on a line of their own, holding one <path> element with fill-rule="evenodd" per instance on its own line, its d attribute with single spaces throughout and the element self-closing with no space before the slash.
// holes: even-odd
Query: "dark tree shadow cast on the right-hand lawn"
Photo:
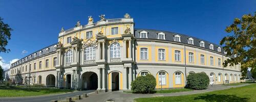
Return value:
<svg viewBox="0 0 256 102">
<path fill-rule="evenodd" d="M 225 95 L 225 94 L 206 94 L 195 97 L 194 100 L 203 99 L 205 101 L 248 101 L 248 98 L 239 97 L 236 95 Z"/>
</svg>

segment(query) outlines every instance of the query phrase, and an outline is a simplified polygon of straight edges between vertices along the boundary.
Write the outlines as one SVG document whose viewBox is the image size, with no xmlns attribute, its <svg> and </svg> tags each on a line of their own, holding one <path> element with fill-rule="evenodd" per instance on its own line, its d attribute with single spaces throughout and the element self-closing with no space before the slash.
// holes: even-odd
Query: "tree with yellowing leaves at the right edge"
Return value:
<svg viewBox="0 0 256 102">
<path fill-rule="evenodd" d="M 227 52 L 226 56 L 237 55 L 227 59 L 223 65 L 233 66 L 241 63 L 242 79 L 246 76 L 248 67 L 256 68 L 256 12 L 243 15 L 242 20 L 235 18 L 225 31 L 231 36 L 224 37 L 220 44 Z"/>
</svg>

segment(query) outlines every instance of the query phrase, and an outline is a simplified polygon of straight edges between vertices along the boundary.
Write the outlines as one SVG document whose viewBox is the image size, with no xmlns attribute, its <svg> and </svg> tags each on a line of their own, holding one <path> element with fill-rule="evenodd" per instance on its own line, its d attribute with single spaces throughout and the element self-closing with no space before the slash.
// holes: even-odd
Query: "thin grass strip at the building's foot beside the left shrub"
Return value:
<svg viewBox="0 0 256 102">
<path fill-rule="evenodd" d="M 180 89 L 169 89 L 169 90 L 154 90 L 152 93 L 175 93 L 175 92 L 184 92 L 184 91 L 193 91 L 192 89 L 180 88 Z M 134 93 L 133 91 L 123 91 L 125 93 Z"/>
</svg>

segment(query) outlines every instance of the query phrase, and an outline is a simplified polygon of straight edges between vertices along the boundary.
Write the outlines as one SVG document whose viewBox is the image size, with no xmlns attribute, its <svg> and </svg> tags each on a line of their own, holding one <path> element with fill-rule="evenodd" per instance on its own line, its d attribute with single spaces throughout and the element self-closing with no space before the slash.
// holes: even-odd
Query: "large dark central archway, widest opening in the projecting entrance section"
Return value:
<svg viewBox="0 0 256 102">
<path fill-rule="evenodd" d="M 96 90 L 98 88 L 98 76 L 95 72 L 82 74 L 82 90 Z"/>
</svg>

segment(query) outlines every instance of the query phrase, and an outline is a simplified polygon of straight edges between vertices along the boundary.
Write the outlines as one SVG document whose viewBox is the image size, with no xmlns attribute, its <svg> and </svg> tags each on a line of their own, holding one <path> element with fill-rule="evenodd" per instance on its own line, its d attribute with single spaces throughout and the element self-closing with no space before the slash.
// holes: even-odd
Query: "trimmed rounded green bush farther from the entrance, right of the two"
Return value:
<svg viewBox="0 0 256 102">
<path fill-rule="evenodd" d="M 187 77 L 187 87 L 196 90 L 207 89 L 209 86 L 209 77 L 206 73 L 192 73 Z"/>
</svg>

